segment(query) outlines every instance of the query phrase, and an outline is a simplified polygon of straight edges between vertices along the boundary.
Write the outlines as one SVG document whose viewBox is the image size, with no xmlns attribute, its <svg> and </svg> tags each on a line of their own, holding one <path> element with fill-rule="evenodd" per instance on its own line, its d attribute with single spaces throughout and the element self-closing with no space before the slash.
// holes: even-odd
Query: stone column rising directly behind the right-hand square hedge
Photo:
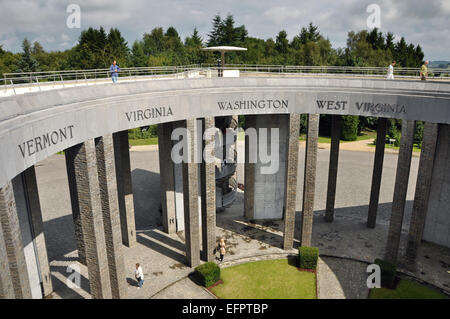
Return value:
<svg viewBox="0 0 450 319">
<path fill-rule="evenodd" d="M 311 246 L 314 217 L 314 192 L 316 186 L 317 141 L 319 137 L 319 115 L 308 114 L 306 140 L 305 177 L 303 184 L 302 246 Z"/>
</svg>

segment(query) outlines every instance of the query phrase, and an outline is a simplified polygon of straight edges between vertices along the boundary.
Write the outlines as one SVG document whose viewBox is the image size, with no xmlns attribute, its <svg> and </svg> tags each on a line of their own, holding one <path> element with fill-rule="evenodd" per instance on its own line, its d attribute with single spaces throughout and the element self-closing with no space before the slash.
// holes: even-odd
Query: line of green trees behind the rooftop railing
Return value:
<svg viewBox="0 0 450 319">
<path fill-rule="evenodd" d="M 7 72 L 107 68 L 113 59 L 121 67 L 215 64 L 219 56 L 200 49 L 218 45 L 248 48 L 229 53 L 227 63 L 383 67 L 396 60 L 397 66 L 420 67 L 424 58 L 420 45 L 407 43 L 403 37 L 395 41 L 393 33 L 383 34 L 376 28 L 350 31 L 346 47 L 333 48 L 313 23 L 301 27 L 291 40 L 284 30 L 264 40 L 249 36 L 245 25 L 236 25 L 233 15 L 222 18 L 218 14 L 207 39 L 196 28 L 183 41 L 174 27 L 155 27 L 130 46 L 119 29 L 107 32 L 100 27 L 82 31 L 74 47 L 50 52 L 39 42 L 24 39 L 20 53 L 0 46 L 0 77 Z"/>
</svg>

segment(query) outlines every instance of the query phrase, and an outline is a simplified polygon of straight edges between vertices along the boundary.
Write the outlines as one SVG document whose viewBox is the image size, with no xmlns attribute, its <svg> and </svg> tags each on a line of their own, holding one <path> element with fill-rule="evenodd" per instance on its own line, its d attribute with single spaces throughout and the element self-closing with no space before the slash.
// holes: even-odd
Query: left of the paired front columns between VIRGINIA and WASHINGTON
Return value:
<svg viewBox="0 0 450 319">
<path fill-rule="evenodd" d="M 186 129 L 190 133 L 186 141 L 183 162 L 183 202 L 184 232 L 186 241 L 186 259 L 190 267 L 200 264 L 200 229 L 198 207 L 198 164 L 195 163 L 195 119 L 186 120 Z M 187 156 L 186 156 L 187 155 Z"/>
</svg>

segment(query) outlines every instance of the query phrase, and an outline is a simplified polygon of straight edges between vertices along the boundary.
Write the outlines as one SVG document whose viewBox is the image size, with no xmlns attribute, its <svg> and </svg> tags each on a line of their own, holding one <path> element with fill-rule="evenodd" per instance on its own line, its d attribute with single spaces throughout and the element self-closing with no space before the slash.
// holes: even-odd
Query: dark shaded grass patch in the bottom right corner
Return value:
<svg viewBox="0 0 450 319">
<path fill-rule="evenodd" d="M 369 299 L 448 299 L 448 297 L 416 281 L 402 278 L 395 290 L 371 289 Z"/>
</svg>

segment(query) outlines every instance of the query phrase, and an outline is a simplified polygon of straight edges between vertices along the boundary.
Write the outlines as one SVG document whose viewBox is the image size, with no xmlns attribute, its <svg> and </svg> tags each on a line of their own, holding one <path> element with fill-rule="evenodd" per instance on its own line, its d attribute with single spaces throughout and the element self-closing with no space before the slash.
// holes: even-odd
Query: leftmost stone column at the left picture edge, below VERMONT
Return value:
<svg viewBox="0 0 450 319">
<path fill-rule="evenodd" d="M 11 183 L 0 188 L 0 295 L 30 299 L 31 289 Z"/>
</svg>

